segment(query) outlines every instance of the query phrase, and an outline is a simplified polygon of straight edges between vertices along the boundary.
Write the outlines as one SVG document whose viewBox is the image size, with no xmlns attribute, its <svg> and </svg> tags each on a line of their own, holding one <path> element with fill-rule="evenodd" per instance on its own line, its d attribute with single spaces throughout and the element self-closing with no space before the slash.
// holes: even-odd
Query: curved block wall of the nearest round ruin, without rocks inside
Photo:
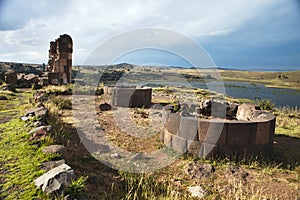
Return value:
<svg viewBox="0 0 300 200">
<path fill-rule="evenodd" d="M 163 110 L 161 140 L 178 153 L 200 158 L 212 156 L 269 155 L 272 152 L 275 116 L 258 121 L 197 119 Z"/>
</svg>

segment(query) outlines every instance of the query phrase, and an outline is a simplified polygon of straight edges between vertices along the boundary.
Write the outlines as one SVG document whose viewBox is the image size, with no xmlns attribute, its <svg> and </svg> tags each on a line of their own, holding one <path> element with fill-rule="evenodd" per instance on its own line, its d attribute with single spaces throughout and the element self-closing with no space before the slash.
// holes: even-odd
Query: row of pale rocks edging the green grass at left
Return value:
<svg viewBox="0 0 300 200">
<path fill-rule="evenodd" d="M 28 126 L 34 126 L 29 135 L 29 142 L 44 139 L 47 135 L 53 133 L 53 128 L 48 124 L 48 109 L 43 106 L 42 102 L 46 100 L 43 93 L 36 93 L 34 101 L 40 103 L 39 107 L 28 110 L 21 120 L 28 122 Z M 64 155 L 66 148 L 63 145 L 50 145 L 44 147 L 42 152 L 45 154 Z M 42 169 L 47 170 L 45 174 L 34 180 L 34 184 L 44 192 L 53 195 L 61 195 L 66 188 L 76 179 L 74 171 L 65 163 L 65 160 L 48 161 L 42 164 Z"/>
</svg>

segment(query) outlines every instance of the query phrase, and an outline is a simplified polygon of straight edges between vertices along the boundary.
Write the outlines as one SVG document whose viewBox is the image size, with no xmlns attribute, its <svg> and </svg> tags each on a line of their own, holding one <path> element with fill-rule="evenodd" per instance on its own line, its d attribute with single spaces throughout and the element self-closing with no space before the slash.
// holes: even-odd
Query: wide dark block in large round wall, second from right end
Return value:
<svg viewBox="0 0 300 200">
<path fill-rule="evenodd" d="M 256 123 L 228 123 L 227 144 L 246 146 L 255 143 Z"/>
</svg>

